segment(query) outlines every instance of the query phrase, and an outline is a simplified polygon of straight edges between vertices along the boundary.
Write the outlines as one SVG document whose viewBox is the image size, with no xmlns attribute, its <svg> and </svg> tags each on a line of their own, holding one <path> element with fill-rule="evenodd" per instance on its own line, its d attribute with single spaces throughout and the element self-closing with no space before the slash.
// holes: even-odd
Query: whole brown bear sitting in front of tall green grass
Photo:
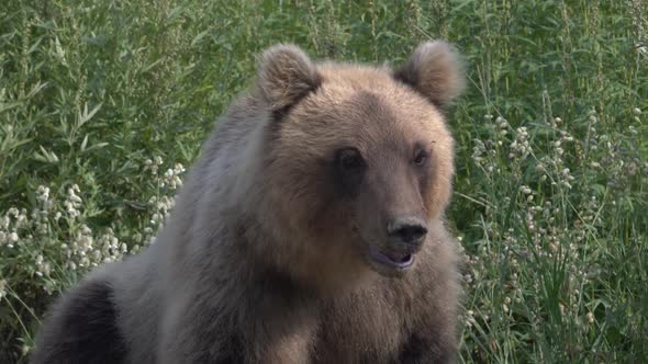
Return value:
<svg viewBox="0 0 648 364">
<path fill-rule="evenodd" d="M 32 363 L 447 363 L 456 241 L 444 227 L 461 69 L 267 49 L 146 251 L 51 309 Z"/>
</svg>

